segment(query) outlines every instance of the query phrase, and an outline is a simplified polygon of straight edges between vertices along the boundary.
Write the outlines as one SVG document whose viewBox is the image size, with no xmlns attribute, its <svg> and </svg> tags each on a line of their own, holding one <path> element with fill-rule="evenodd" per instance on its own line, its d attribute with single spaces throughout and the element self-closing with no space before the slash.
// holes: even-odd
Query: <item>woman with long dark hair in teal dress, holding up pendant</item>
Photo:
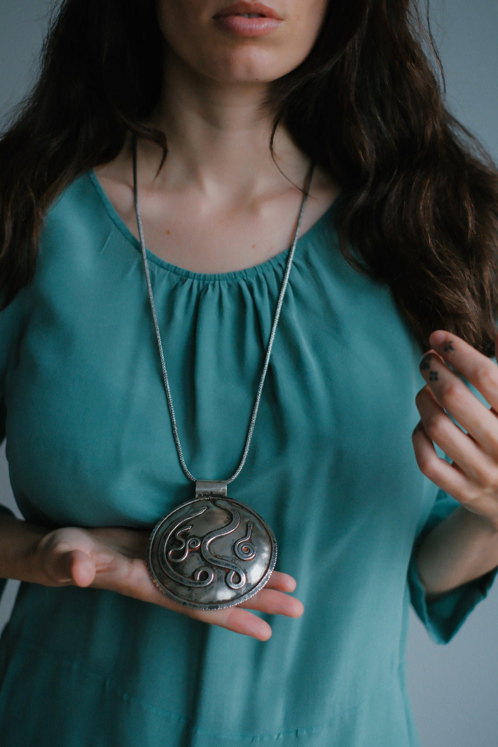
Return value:
<svg viewBox="0 0 498 747">
<path fill-rule="evenodd" d="M 27 520 L 0 524 L 0 575 L 25 582 L 6 745 L 414 745 L 409 595 L 447 640 L 491 583 L 497 174 L 459 140 L 408 3 L 343 5 L 61 6 L 0 145 L 2 422 Z M 147 572 L 151 527 L 193 489 L 134 152 L 181 446 L 209 480 L 237 468 L 309 190 L 231 490 L 304 613 L 281 571 L 207 611 Z"/>
</svg>

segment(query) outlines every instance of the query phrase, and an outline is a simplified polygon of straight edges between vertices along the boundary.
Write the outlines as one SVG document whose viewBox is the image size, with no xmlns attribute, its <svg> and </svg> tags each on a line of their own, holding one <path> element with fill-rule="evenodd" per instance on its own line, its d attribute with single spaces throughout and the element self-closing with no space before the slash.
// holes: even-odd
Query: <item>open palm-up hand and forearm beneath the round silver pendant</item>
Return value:
<svg viewBox="0 0 498 747">
<path fill-rule="evenodd" d="M 4 525 L 13 522 L 16 522 L 20 553 L 13 552 L 16 542 L 12 535 L 10 540 L 5 539 L 7 527 Z M 191 610 L 176 604 L 159 591 L 149 576 L 144 560 L 149 533 L 142 530 L 66 527 L 43 533 L 40 527 L 10 517 L 1 518 L 0 528 L 3 535 L 3 542 L 0 541 L 0 577 L 19 578 L 45 586 L 109 589 L 261 641 L 269 639 L 272 630 L 267 622 L 249 610 L 287 617 L 300 617 L 303 612 L 301 602 L 289 595 L 296 588 L 296 582 L 278 571 L 273 571 L 261 592 L 235 607 Z M 5 542 L 10 546 L 10 571 L 8 562 L 1 562 L 2 555 L 5 557 L 1 546 Z M 19 556 L 18 562 L 13 563 L 13 555 Z M 13 574 L 13 571 L 18 572 Z"/>
</svg>

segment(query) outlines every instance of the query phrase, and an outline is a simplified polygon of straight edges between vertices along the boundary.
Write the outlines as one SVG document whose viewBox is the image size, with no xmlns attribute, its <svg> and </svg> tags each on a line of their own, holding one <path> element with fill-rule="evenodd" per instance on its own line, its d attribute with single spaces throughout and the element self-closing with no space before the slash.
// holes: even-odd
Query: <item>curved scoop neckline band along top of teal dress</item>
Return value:
<svg viewBox="0 0 498 747">
<path fill-rule="evenodd" d="M 128 241 L 128 244 L 131 244 L 131 246 L 141 254 L 142 247 L 140 247 L 140 241 L 131 233 L 130 229 L 128 229 L 128 226 L 126 225 L 124 220 L 122 220 L 122 217 L 119 215 L 118 211 L 116 211 L 116 208 L 108 198 L 107 193 L 99 182 L 99 177 L 96 175 L 95 169 L 91 169 L 88 172 L 88 176 L 90 177 L 90 182 L 96 190 L 100 201 L 104 205 L 108 216 L 111 218 L 116 228 L 123 235 L 126 241 Z M 300 253 L 298 252 L 298 249 L 302 249 L 303 245 L 307 243 L 311 238 L 311 235 L 317 232 L 317 230 L 319 230 L 325 223 L 328 223 L 329 220 L 332 219 L 337 209 L 337 203 L 339 202 L 339 199 L 340 194 L 337 195 L 337 197 L 334 199 L 331 205 L 329 205 L 326 211 L 320 216 L 320 218 L 318 218 L 318 220 L 316 220 L 315 223 L 313 223 L 313 225 L 310 226 L 305 233 L 299 236 L 296 244 L 296 254 L 294 255 L 294 258 L 296 258 L 296 256 Z M 185 267 L 179 267 L 176 264 L 167 262 L 165 259 L 161 258 L 146 247 L 146 255 L 149 262 L 152 262 L 158 267 L 162 267 L 162 269 L 167 270 L 169 273 L 175 273 L 175 275 L 204 282 L 222 282 L 227 280 L 250 279 L 260 276 L 266 273 L 268 270 L 273 270 L 275 269 L 275 267 L 281 267 L 281 265 L 285 263 L 289 252 L 290 247 L 287 247 L 287 249 L 278 252 L 278 254 L 270 257 L 270 259 L 266 259 L 264 262 L 252 265 L 252 267 L 245 267 L 242 270 L 231 270 L 231 272 L 226 273 L 196 273 L 193 270 L 187 270 Z"/>
</svg>

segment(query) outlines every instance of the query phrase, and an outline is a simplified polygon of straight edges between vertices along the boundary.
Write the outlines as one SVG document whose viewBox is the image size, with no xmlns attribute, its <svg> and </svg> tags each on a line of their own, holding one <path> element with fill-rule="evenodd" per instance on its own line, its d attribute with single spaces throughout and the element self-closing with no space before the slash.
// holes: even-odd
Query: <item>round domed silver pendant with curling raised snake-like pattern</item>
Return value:
<svg viewBox="0 0 498 747">
<path fill-rule="evenodd" d="M 182 503 L 152 530 L 147 568 L 155 585 L 185 607 L 222 610 L 270 579 L 276 539 L 261 516 L 233 498 Z"/>
</svg>

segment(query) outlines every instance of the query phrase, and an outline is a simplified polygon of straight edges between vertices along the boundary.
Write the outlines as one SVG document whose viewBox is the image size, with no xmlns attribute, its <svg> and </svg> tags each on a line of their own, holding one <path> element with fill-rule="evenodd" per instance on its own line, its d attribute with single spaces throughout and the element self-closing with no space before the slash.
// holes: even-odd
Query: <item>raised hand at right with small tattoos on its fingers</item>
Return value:
<svg viewBox="0 0 498 747">
<path fill-rule="evenodd" d="M 429 341 L 433 350 L 420 363 L 427 383 L 416 398 L 417 464 L 429 480 L 498 532 L 498 366 L 449 332 L 433 332 Z M 449 366 L 473 384 L 491 409 Z M 438 457 L 434 444 L 451 464 Z"/>
</svg>

